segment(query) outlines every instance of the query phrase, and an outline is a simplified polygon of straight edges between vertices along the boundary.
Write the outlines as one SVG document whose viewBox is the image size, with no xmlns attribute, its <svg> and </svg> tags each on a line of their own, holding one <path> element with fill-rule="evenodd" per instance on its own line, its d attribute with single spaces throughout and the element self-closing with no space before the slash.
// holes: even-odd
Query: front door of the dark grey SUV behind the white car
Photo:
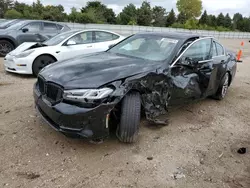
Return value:
<svg viewBox="0 0 250 188">
<path fill-rule="evenodd" d="M 42 24 L 41 22 L 30 22 L 24 25 L 17 31 L 17 42 L 22 44 L 23 42 L 43 42 L 45 37 L 40 35 Z"/>
</svg>

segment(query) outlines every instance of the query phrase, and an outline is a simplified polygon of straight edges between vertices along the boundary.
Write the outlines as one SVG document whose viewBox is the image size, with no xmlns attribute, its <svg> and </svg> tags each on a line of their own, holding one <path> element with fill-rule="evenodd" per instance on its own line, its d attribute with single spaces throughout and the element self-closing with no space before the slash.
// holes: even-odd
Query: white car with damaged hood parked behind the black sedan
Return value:
<svg viewBox="0 0 250 188">
<path fill-rule="evenodd" d="M 105 30 L 71 30 L 44 43 L 25 42 L 6 55 L 5 70 L 36 76 L 46 65 L 78 55 L 106 51 L 124 38 Z"/>
</svg>

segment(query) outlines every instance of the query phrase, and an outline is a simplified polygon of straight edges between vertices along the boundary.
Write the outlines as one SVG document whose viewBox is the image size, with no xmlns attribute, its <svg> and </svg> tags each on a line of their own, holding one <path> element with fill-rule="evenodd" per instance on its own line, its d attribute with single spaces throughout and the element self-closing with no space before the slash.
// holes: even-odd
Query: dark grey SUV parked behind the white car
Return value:
<svg viewBox="0 0 250 188">
<path fill-rule="evenodd" d="M 23 42 L 44 42 L 70 30 L 67 25 L 50 21 L 21 20 L 6 29 L 0 29 L 0 56 L 5 56 Z"/>
</svg>

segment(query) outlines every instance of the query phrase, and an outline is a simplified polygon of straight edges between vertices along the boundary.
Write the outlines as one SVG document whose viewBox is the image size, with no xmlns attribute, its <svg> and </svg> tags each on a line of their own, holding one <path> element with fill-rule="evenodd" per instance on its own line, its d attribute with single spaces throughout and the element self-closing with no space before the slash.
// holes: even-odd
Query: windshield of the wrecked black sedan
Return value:
<svg viewBox="0 0 250 188">
<path fill-rule="evenodd" d="M 134 35 L 108 52 L 152 61 L 163 61 L 173 52 L 178 40 L 158 35 Z"/>
</svg>

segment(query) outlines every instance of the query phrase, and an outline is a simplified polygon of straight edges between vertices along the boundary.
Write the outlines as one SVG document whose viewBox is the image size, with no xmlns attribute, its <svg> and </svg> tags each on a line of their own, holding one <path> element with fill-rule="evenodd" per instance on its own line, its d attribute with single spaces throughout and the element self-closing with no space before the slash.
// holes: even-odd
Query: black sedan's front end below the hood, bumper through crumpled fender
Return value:
<svg viewBox="0 0 250 188">
<path fill-rule="evenodd" d="M 103 139 L 117 128 L 121 101 L 133 91 L 141 95 L 147 120 L 166 125 L 167 122 L 159 121 L 157 117 L 167 112 L 169 83 L 167 73 L 155 71 L 113 81 L 100 89 L 63 91 L 59 86 L 38 78 L 34 98 L 39 114 L 55 130 L 67 136 Z M 61 90 L 62 98 L 57 94 L 53 99 L 52 93 L 45 93 L 44 88 Z"/>
</svg>

